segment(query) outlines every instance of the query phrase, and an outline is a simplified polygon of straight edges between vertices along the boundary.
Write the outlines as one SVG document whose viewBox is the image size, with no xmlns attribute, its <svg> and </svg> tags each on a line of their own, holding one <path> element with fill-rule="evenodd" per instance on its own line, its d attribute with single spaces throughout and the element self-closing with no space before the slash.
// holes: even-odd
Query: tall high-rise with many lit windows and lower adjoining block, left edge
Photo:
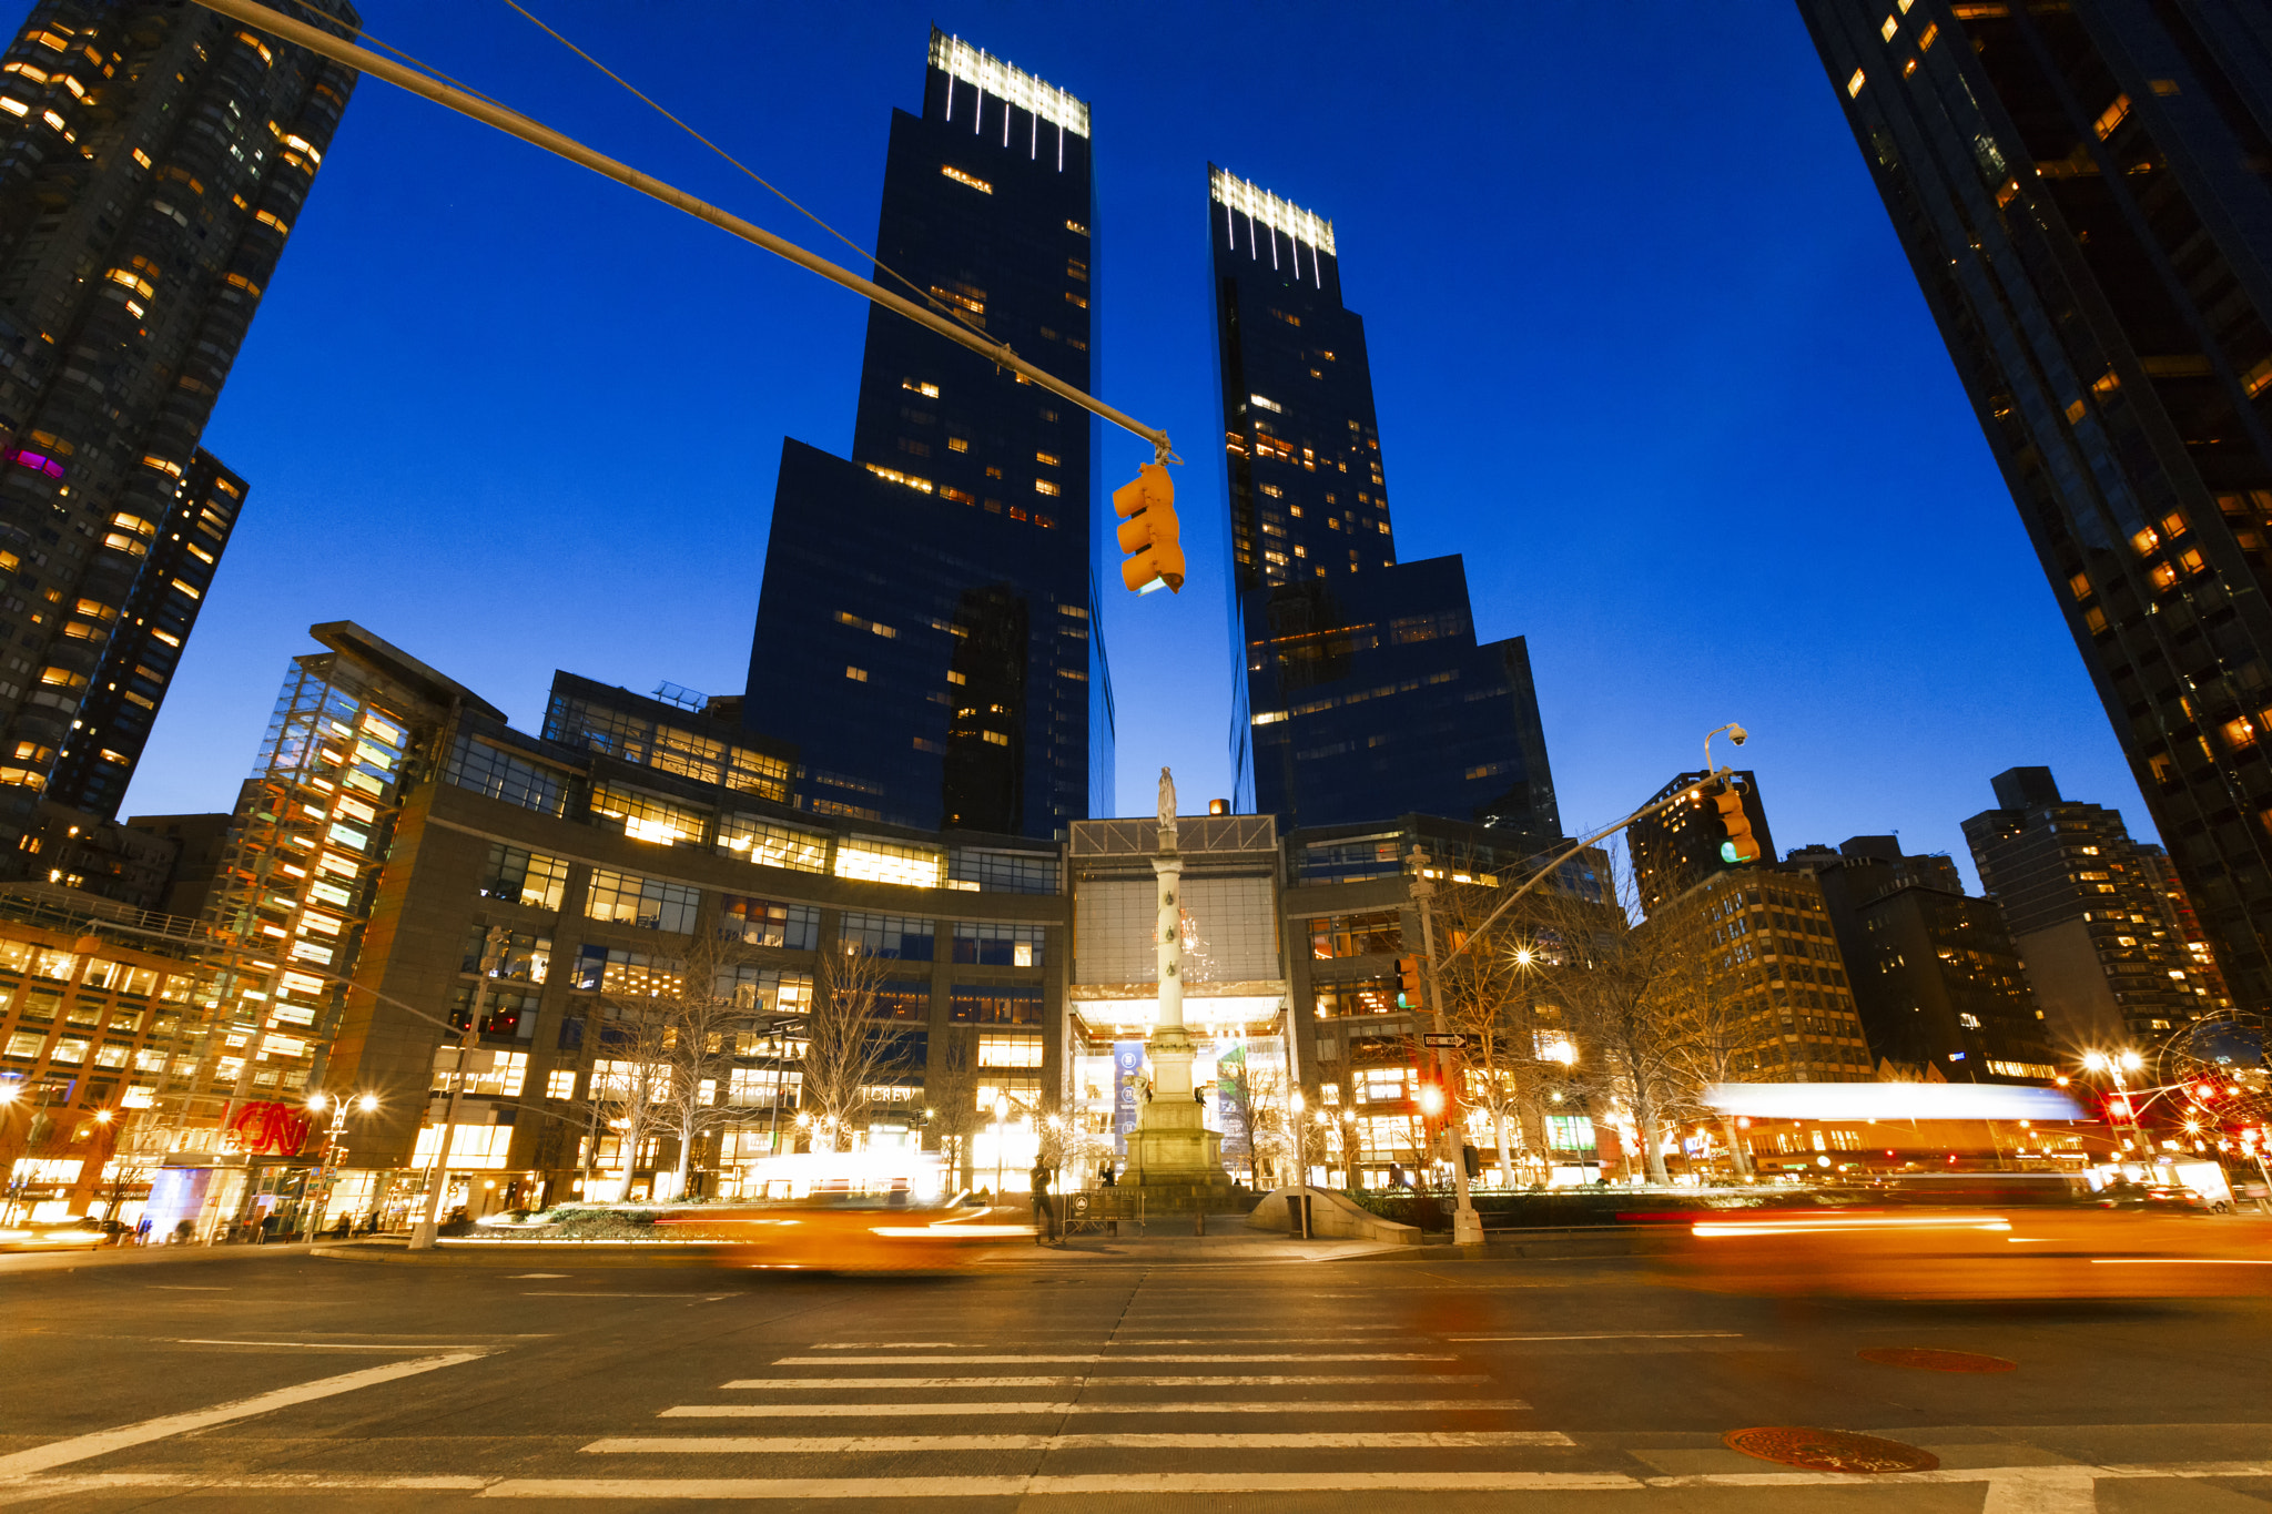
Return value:
<svg viewBox="0 0 2272 1514">
<path fill-rule="evenodd" d="M 118 813 L 245 499 L 198 438 L 350 89 L 148 0 L 41 0 L 0 64 L 0 876 L 55 872 L 41 801 Z"/>
</svg>

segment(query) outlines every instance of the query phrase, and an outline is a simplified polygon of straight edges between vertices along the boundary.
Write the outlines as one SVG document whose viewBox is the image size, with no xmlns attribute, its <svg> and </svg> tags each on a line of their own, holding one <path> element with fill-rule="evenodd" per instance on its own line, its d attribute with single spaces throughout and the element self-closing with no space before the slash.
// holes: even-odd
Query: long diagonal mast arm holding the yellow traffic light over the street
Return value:
<svg viewBox="0 0 2272 1514">
<path fill-rule="evenodd" d="M 952 343 L 961 343 L 963 347 L 970 347 L 979 356 L 984 356 L 984 359 L 988 359 L 988 361 L 993 361 L 993 363 L 997 363 L 1002 368 L 1009 368 L 1009 370 L 1022 375 L 1025 379 L 1029 379 L 1029 381 L 1038 384 L 1041 388 L 1050 390 L 1052 395 L 1059 395 L 1061 399 L 1070 399 L 1072 404 L 1081 406 L 1084 411 L 1088 411 L 1093 415 L 1102 415 L 1104 420 L 1113 422 L 1122 431 L 1131 431 L 1134 436 L 1141 436 L 1143 440 L 1152 443 L 1152 454 L 1161 463 L 1168 463 L 1170 459 L 1175 459 L 1175 449 L 1168 445 L 1168 434 L 1166 431 L 1154 431 L 1152 427 L 1143 424 L 1134 415 L 1122 415 L 1120 411 L 1116 411 L 1113 406 L 1104 404 L 1095 395 L 1091 395 L 1086 390 L 1079 390 L 1072 384 L 1066 384 L 1063 379 L 1059 379 L 1059 377 L 1054 377 L 1050 372 L 1043 372 L 1034 363 L 1027 363 L 1022 356 L 1018 356 L 1016 352 L 1011 352 L 1002 343 L 988 340 L 988 338 L 979 336 L 977 331 L 972 331 L 968 327 L 961 327 L 961 325 L 947 320 L 945 316 L 938 316 L 936 311 L 927 311 L 925 306 L 916 304 L 913 300 L 904 300 L 904 297 L 891 293 L 888 288 L 884 288 L 882 284 L 875 284 L 872 279 L 859 277 L 850 268 L 838 268 L 836 263 L 827 261 L 825 256 L 820 256 L 816 252 L 807 252 L 804 247 L 800 247 L 800 245 L 795 245 L 791 241 L 784 241 L 784 238 L 775 236 L 772 232 L 766 232 L 763 227 L 757 227 L 757 225 L 743 220 L 741 216 L 734 216 L 729 211 L 720 211 L 716 204 L 709 204 L 704 200 L 695 200 L 684 188 L 663 184 L 661 179 L 657 179 L 652 175 L 638 173 L 629 163 L 618 163 L 616 159 L 607 157 L 604 152 L 593 152 L 591 148 L 586 148 L 579 141 L 575 141 L 573 136 L 563 136 L 561 132 L 554 132 L 548 125 L 529 120 L 520 111 L 509 111 L 502 104 L 491 104 L 488 100 L 482 100 L 479 95 L 470 95 L 470 93 L 466 93 L 461 89 L 454 89 L 450 84 L 443 84 L 438 79 L 429 79 L 427 75 L 418 73 L 414 68 L 404 68 L 402 64 L 389 61 L 389 59 L 379 57 L 377 52 L 370 52 L 368 48 L 357 48 L 354 43 L 350 43 L 350 41 L 345 41 L 341 36 L 332 36 L 329 32 L 323 32 L 318 27 L 304 25 L 304 23 L 293 20 L 289 16 L 279 16 L 277 11 L 270 11 L 266 5 L 254 5 L 252 0 L 198 0 L 198 5 L 202 5 L 209 11 L 218 11 L 220 16 L 227 16 L 232 20 L 241 20 L 245 25 L 252 25 L 252 27 L 259 27 L 264 32 L 270 32 L 270 34 L 275 34 L 275 36 L 293 43 L 293 45 L 307 48 L 309 52 L 320 52 L 323 57 L 332 59 L 334 64 L 345 64 L 348 68 L 357 68 L 361 73 L 377 75 L 379 79 L 386 79 L 389 84 L 407 89 L 414 95 L 425 95 L 434 104 L 443 104 L 443 107 L 457 111 L 459 116 L 473 116 L 475 120 L 479 120 L 484 125 L 498 127 L 507 136 L 518 136 L 520 141 L 532 143 L 536 148 L 543 148 L 545 152 L 554 152 L 554 154 L 568 159 L 570 163 L 582 163 L 584 168 L 591 168 L 593 173 L 598 173 L 602 177 L 616 179 L 618 184 L 627 184 L 629 188 L 636 188 L 638 193 L 643 193 L 643 195 L 648 195 L 652 200 L 661 200 L 668 207 L 686 211 L 695 220 L 707 220 L 713 227 L 743 238 L 745 243 L 754 243 L 754 245 L 763 247 L 766 252 L 784 256 L 784 259 L 788 259 L 791 263 L 795 263 L 800 268 L 818 272 L 822 279 L 829 279 L 832 284 L 843 284 L 852 293 L 863 295 L 866 300 L 872 300 L 875 304 L 882 304 L 884 309 L 888 309 L 888 311 L 893 311 L 897 316 L 907 316 L 916 325 L 929 327 L 932 331 L 938 331 L 941 336 L 945 336 Z M 1179 461 L 1179 459 L 1175 459 L 1175 461 Z"/>
</svg>

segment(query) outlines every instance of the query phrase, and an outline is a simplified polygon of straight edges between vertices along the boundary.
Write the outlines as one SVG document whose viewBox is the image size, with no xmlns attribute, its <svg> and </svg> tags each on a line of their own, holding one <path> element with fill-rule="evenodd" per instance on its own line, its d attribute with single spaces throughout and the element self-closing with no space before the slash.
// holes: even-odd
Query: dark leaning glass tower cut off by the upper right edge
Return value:
<svg viewBox="0 0 2272 1514">
<path fill-rule="evenodd" d="M 2261 1010 L 2272 20 L 2261 0 L 1799 9 L 2217 962 Z"/>
</svg>

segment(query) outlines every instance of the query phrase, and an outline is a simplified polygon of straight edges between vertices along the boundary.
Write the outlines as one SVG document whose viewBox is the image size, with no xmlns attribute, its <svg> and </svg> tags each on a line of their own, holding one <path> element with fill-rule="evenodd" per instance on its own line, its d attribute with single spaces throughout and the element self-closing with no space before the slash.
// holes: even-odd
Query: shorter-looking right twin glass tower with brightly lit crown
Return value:
<svg viewBox="0 0 2272 1514">
<path fill-rule="evenodd" d="M 1559 835 L 1522 638 L 1477 645 L 1461 558 L 1397 563 L 1334 225 L 1209 168 L 1209 236 L 1238 806 L 1288 826 L 1418 813 Z"/>
</svg>

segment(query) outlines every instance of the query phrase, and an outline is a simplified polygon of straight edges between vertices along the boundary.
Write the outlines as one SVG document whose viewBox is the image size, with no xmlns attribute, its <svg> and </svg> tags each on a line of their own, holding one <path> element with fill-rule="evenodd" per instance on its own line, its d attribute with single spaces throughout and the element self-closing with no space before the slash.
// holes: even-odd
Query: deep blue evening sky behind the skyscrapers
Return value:
<svg viewBox="0 0 2272 1514">
<path fill-rule="evenodd" d="M 1568 829 L 1740 720 L 1784 849 L 1899 831 L 1970 876 L 2015 763 L 2149 835 L 1793 7 L 529 9 L 863 245 L 929 20 L 1093 102 L 1100 388 L 1191 461 L 1191 581 L 1106 608 L 1122 813 L 1161 763 L 1186 808 L 1227 790 L 1213 159 L 1334 220 L 1397 549 L 1463 552 L 1481 636 L 1529 638 Z M 502 0 L 366 23 L 825 243 Z M 554 667 L 738 690 L 782 436 L 847 447 L 866 320 L 366 79 L 204 438 L 250 506 L 125 813 L 227 808 L 320 620 L 529 729 Z"/>
</svg>

